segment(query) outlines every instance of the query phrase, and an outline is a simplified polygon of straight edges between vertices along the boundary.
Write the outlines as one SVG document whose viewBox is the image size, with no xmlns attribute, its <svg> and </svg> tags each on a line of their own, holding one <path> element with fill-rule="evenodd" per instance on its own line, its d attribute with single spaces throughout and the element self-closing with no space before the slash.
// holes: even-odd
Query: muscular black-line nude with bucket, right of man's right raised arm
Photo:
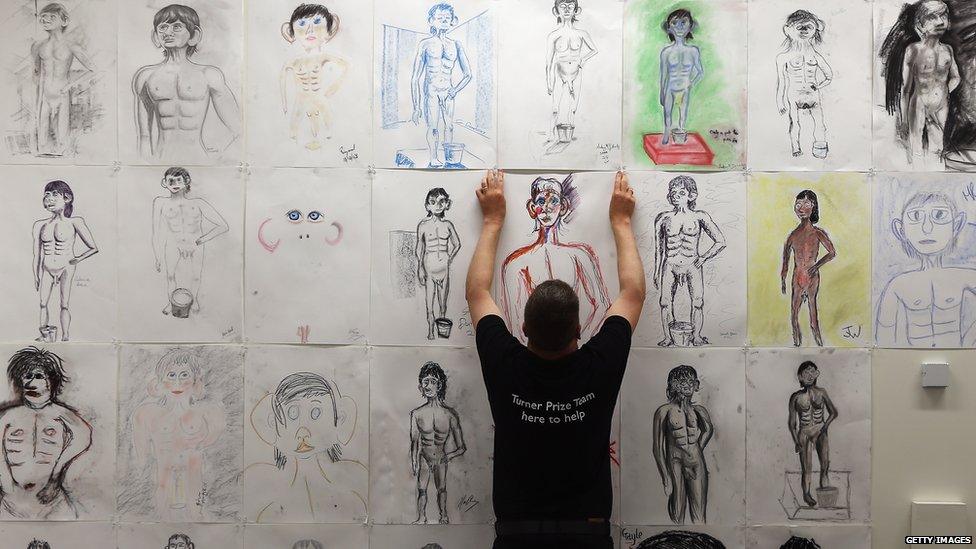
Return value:
<svg viewBox="0 0 976 549">
<path fill-rule="evenodd" d="M 668 202 L 674 209 L 654 219 L 654 287 L 661 291 L 664 339 L 658 345 L 662 347 L 708 344 L 701 333 L 705 322 L 702 269 L 725 249 L 725 235 L 707 212 L 696 209 L 697 199 L 695 180 L 679 175 L 668 183 Z M 712 241 L 704 252 L 699 251 L 702 233 Z M 690 300 L 687 322 L 676 320 L 674 313 L 675 294 L 682 285 L 687 287 Z"/>
</svg>

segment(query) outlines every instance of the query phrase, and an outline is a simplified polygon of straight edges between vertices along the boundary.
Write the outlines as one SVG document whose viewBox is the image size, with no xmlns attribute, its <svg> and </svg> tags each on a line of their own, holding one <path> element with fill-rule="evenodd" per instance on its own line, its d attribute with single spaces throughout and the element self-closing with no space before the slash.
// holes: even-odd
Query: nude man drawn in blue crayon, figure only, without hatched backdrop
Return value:
<svg viewBox="0 0 976 549">
<path fill-rule="evenodd" d="M 427 12 L 430 36 L 420 41 L 413 63 L 410 91 L 413 100 L 413 123 L 423 119 L 427 124 L 428 167 L 441 168 L 459 164 L 455 150 L 463 145 L 454 142 L 454 98 L 471 81 L 471 67 L 464 47 L 447 36 L 458 23 L 454 7 L 434 4 Z M 453 83 L 454 67 L 461 70 L 461 80 Z"/>
</svg>

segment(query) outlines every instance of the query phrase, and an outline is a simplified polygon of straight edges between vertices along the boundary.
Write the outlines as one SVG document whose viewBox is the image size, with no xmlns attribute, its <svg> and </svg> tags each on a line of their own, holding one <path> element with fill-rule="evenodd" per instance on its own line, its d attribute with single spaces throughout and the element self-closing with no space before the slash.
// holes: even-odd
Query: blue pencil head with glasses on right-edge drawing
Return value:
<svg viewBox="0 0 976 549">
<path fill-rule="evenodd" d="M 966 212 L 940 192 L 916 193 L 905 202 L 901 216 L 891 220 L 891 232 L 913 259 L 951 253 L 965 226 Z"/>
</svg>

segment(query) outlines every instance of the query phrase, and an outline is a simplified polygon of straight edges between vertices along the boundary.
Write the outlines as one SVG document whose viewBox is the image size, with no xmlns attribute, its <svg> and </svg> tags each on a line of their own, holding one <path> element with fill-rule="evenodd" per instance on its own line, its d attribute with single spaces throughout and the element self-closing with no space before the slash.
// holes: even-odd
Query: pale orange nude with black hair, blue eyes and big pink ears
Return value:
<svg viewBox="0 0 976 549">
<path fill-rule="evenodd" d="M 349 70 L 348 61 L 324 49 L 338 32 L 339 16 L 321 4 L 299 4 L 281 25 L 281 36 L 289 44 L 297 42 L 303 52 L 281 68 L 281 110 L 288 114 L 290 87 L 289 136 L 297 142 L 307 125 L 311 138 L 304 146 L 310 151 L 320 149 L 323 138 L 332 138 L 329 98 L 338 91 Z"/>
</svg>

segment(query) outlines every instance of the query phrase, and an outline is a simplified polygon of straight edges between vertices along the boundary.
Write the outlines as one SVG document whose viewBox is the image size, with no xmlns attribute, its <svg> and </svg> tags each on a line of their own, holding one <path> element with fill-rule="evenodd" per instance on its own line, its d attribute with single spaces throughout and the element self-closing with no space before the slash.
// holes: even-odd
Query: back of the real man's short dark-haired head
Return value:
<svg viewBox="0 0 976 549">
<path fill-rule="evenodd" d="M 522 331 L 534 349 L 558 353 L 580 337 L 579 296 L 562 280 L 547 280 L 525 302 Z"/>
</svg>

